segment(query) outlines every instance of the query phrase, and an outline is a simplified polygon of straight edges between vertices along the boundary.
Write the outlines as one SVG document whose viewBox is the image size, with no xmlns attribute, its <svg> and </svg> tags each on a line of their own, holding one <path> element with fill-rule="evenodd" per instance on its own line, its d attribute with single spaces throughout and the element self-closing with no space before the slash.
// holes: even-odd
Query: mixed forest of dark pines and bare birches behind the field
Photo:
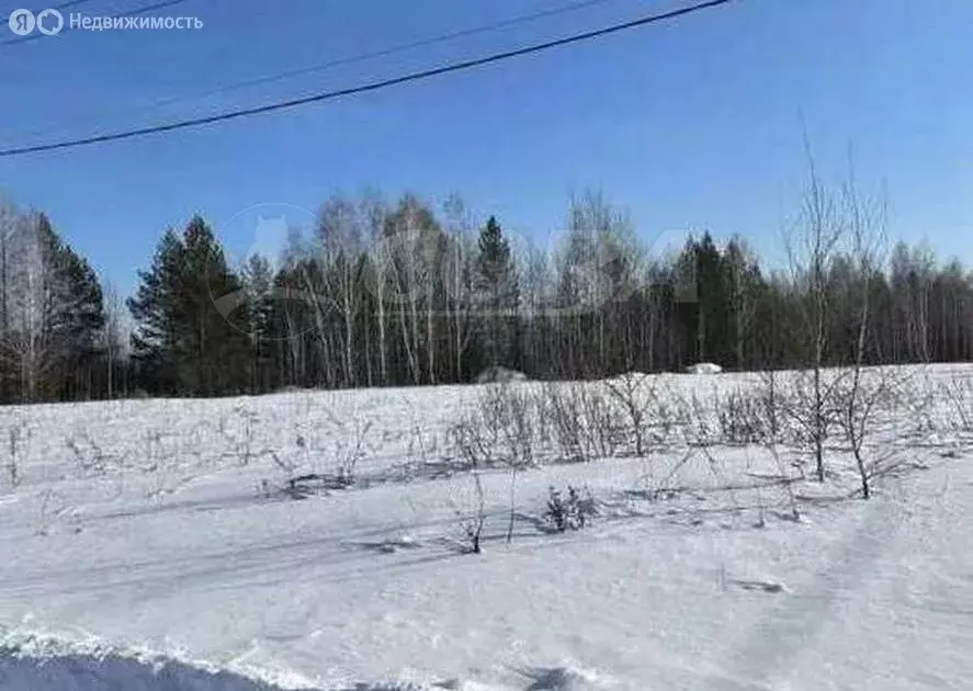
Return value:
<svg viewBox="0 0 973 691">
<path fill-rule="evenodd" d="M 363 193 L 327 200 L 279 257 L 233 265 L 194 217 L 127 301 L 44 213 L 0 205 L 0 399 L 448 384 L 490 364 L 535 378 L 840 365 L 863 333 L 865 364 L 973 359 L 973 272 L 890 247 L 875 217 L 813 192 L 780 267 L 736 236 L 653 251 L 597 193 L 545 248 L 456 196 Z"/>
</svg>

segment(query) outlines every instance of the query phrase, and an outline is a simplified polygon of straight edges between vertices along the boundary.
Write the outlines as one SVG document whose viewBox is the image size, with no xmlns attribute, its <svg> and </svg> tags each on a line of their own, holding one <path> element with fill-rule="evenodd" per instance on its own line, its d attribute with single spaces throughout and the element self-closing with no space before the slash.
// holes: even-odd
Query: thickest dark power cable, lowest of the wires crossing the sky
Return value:
<svg viewBox="0 0 973 691">
<path fill-rule="evenodd" d="M 691 4 L 685 8 L 680 8 L 678 10 L 670 10 L 668 12 L 661 12 L 658 14 L 649 14 L 647 16 L 642 16 L 640 19 L 631 20 L 629 22 L 623 22 L 621 24 L 612 24 L 611 26 L 606 26 L 603 29 L 596 29 L 592 31 L 588 31 L 580 34 L 574 34 L 570 36 L 565 36 L 563 38 L 555 38 L 553 41 L 547 41 L 544 43 L 533 44 L 530 46 L 524 46 L 522 48 L 517 48 L 513 50 L 506 50 L 504 53 L 495 53 L 493 55 L 487 55 L 479 58 L 474 58 L 469 60 L 464 60 L 461 63 L 452 63 L 450 65 L 443 65 L 440 67 L 434 67 L 431 69 L 426 69 L 417 72 L 409 72 L 407 75 L 401 75 L 399 77 L 392 77 L 389 79 L 383 79 L 381 81 L 372 81 L 364 84 L 359 84 L 357 87 L 349 87 L 347 89 L 338 89 L 336 91 L 325 91 L 321 93 L 316 93 L 307 97 L 301 97 L 297 99 L 290 99 L 286 101 L 279 101 L 275 103 L 267 103 L 264 105 L 257 105 L 253 107 L 238 109 L 233 111 L 227 111 L 225 113 L 219 113 L 216 115 L 208 115 L 205 117 L 196 117 L 192 120 L 183 120 L 173 123 L 167 123 L 161 125 L 154 125 L 151 127 L 142 127 L 137 129 L 127 129 L 123 132 L 115 132 L 102 135 L 93 135 L 90 137 L 83 137 L 80 139 L 68 139 L 64 141 L 55 141 L 52 144 L 38 144 L 33 146 L 24 146 L 16 148 L 8 148 L 0 149 L 0 158 L 11 157 L 11 156 L 21 156 L 24 154 L 38 154 L 41 151 L 54 151 L 57 149 L 68 149 L 75 148 L 79 146 L 86 146 L 89 144 L 102 144 L 106 141 L 118 141 L 121 139 L 131 139 L 133 137 L 142 137 L 150 134 L 159 134 L 165 132 L 173 132 L 177 129 L 185 129 L 189 127 L 200 127 L 202 125 L 211 125 L 214 123 L 225 122 L 229 120 L 236 120 L 239 117 L 249 117 L 251 115 L 259 115 L 262 113 L 270 113 L 274 111 L 288 110 L 293 107 L 297 107 L 301 105 L 307 105 L 310 103 L 319 103 L 321 101 L 330 101 L 333 99 L 338 99 L 341 97 L 353 95 L 359 93 L 365 93 L 369 91 L 378 91 L 380 89 L 386 89 L 388 87 L 394 87 L 396 84 L 403 84 L 412 81 L 421 81 L 425 79 L 430 79 L 432 77 L 437 77 L 439 75 L 446 75 L 450 72 L 459 72 L 467 69 L 473 69 L 475 67 L 482 67 L 484 65 L 490 65 L 493 63 L 499 63 L 501 60 L 507 60 L 514 57 L 520 57 L 524 55 L 531 55 L 533 53 L 540 53 L 542 50 L 548 50 L 551 48 L 556 48 L 559 46 L 565 46 L 569 44 L 580 43 L 584 41 L 590 41 L 592 38 L 599 38 L 601 36 L 607 36 L 609 34 L 615 34 L 629 29 L 635 29 L 638 26 L 645 26 L 648 24 L 654 24 L 657 22 L 661 22 L 669 19 L 675 19 L 677 16 L 682 16 L 687 14 L 692 14 L 694 12 L 699 12 L 702 10 L 706 10 L 710 8 L 715 8 L 722 4 L 727 4 L 733 0 L 708 0 L 706 2 L 699 2 L 697 4 Z"/>
</svg>

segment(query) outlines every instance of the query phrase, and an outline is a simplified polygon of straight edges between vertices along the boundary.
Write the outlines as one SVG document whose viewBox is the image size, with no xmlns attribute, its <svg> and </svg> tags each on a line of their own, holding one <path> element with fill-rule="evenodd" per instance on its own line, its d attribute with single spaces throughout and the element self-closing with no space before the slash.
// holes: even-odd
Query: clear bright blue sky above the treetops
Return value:
<svg viewBox="0 0 973 691">
<path fill-rule="evenodd" d="M 0 31 L 23 0 L 0 0 Z M 92 0 L 88 14 L 148 0 Z M 296 79 L 169 97 L 421 39 L 570 0 L 189 0 L 200 31 L 69 32 L 0 46 L 0 147 L 196 116 L 507 49 L 670 9 L 604 0 L 490 34 Z M 35 10 L 39 7 L 33 8 Z M 163 12 L 165 13 L 165 12 Z M 0 193 L 46 211 L 123 292 L 194 213 L 231 253 L 260 204 L 314 211 L 363 185 L 540 239 L 597 188 L 647 242 L 738 233 L 770 254 L 800 202 L 806 124 L 826 178 L 851 147 L 887 188 L 890 235 L 973 263 L 973 2 L 738 0 L 667 24 L 469 72 L 215 127 L 0 159 Z M 804 124 L 802 124 L 802 122 Z M 42 134 L 37 134 L 42 133 Z M 261 207 L 273 209 L 274 207 Z M 236 220 L 233 220 L 236 217 Z"/>
</svg>

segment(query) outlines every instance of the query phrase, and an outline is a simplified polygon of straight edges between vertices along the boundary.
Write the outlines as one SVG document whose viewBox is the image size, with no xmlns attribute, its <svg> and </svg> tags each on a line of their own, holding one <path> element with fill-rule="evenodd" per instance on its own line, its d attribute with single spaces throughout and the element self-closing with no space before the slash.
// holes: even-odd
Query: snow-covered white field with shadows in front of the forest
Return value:
<svg viewBox="0 0 973 691">
<path fill-rule="evenodd" d="M 646 380 L 638 454 L 532 428 L 516 478 L 456 443 L 483 386 L 3 409 L 0 689 L 966 689 L 973 366 L 895 376 L 870 501 L 839 431 L 824 484 L 729 433 L 753 374 Z"/>
</svg>

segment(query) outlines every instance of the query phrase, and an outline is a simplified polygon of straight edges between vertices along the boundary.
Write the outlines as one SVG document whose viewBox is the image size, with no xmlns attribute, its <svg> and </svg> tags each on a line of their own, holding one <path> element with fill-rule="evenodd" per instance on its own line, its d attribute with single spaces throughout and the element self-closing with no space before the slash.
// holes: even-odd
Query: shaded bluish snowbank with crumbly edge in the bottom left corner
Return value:
<svg viewBox="0 0 973 691">
<path fill-rule="evenodd" d="M 204 668 L 159 655 L 123 652 L 94 643 L 55 638 L 0 638 L 0 689 L 3 691 L 285 691 L 307 686 L 271 681 Z"/>
</svg>

